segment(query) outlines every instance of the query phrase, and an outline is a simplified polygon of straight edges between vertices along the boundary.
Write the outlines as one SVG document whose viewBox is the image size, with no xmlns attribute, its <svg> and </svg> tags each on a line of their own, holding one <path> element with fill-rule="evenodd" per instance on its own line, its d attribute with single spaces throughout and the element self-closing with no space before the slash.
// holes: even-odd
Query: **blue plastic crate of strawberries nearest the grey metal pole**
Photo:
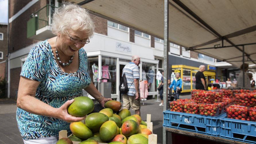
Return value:
<svg viewBox="0 0 256 144">
<path fill-rule="evenodd" d="M 226 116 L 226 113 L 217 115 L 216 117 L 196 115 L 189 113 L 180 113 L 170 110 L 163 111 L 164 127 L 192 131 L 218 137 L 220 135 L 219 119 Z"/>
</svg>

